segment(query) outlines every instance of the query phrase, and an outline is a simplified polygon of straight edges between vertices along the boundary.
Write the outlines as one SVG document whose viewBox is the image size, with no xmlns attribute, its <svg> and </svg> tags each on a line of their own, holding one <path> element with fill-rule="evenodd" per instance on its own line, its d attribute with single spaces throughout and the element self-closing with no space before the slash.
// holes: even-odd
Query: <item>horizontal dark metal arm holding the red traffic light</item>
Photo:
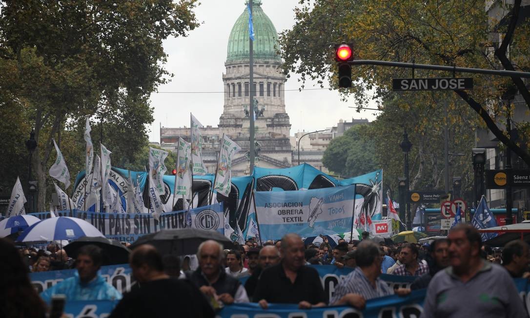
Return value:
<svg viewBox="0 0 530 318">
<path fill-rule="evenodd" d="M 515 70 L 497 70 L 497 69 L 484 69 L 484 68 L 470 68 L 470 67 L 456 67 L 456 66 L 444 66 L 444 65 L 431 65 L 431 64 L 416 64 L 416 63 L 403 63 L 403 62 L 391 62 L 391 61 L 378 61 L 378 60 L 352 60 L 347 61 L 350 65 L 378 65 L 378 66 L 394 66 L 394 67 L 407 67 L 407 68 L 419 68 L 419 69 L 434 69 L 434 70 L 447 70 L 448 72 L 458 73 L 476 73 L 476 74 L 490 74 L 499 76 L 517 76 L 530 78 L 530 72 L 517 72 Z"/>
</svg>

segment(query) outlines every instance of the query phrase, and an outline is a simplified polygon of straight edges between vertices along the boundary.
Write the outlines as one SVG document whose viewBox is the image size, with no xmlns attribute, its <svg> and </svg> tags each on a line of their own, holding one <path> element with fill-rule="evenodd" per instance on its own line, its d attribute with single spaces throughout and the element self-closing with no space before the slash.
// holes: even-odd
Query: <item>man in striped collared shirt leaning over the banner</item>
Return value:
<svg viewBox="0 0 530 318">
<path fill-rule="evenodd" d="M 368 240 L 359 243 L 355 251 L 357 267 L 335 287 L 330 305 L 348 304 L 362 309 L 368 299 L 394 294 L 394 290 L 378 278 L 382 259 L 383 255 L 376 243 Z M 410 290 L 396 291 L 400 295 L 408 293 Z"/>
</svg>

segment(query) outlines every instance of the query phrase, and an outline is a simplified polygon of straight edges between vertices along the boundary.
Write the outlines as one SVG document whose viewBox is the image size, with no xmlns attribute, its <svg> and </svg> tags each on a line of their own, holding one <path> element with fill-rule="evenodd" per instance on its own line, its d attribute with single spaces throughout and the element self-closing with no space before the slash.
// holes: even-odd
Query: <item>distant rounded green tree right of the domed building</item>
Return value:
<svg viewBox="0 0 530 318">
<path fill-rule="evenodd" d="M 353 126 L 344 135 L 331 140 L 322 157 L 324 166 L 343 176 L 357 176 L 379 169 L 375 140 L 365 133 L 368 126 Z"/>
</svg>

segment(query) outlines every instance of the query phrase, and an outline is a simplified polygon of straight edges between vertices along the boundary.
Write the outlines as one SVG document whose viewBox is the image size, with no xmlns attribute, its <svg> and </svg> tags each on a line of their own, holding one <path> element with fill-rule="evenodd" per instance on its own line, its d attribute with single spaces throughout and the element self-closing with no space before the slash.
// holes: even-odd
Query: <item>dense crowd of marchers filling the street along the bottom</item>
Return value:
<svg viewBox="0 0 530 318">
<path fill-rule="evenodd" d="M 164 317 L 175 308 L 183 317 L 213 317 L 226 305 L 248 302 L 258 303 L 263 310 L 271 303 L 297 304 L 303 309 L 326 305 L 363 309 L 369 299 L 407 296 L 411 290 L 427 288 L 422 317 L 527 317 L 513 278 L 530 276 L 528 244 L 512 241 L 499 253 L 483 246 L 470 225 L 458 225 L 447 238 L 422 245 L 376 241 L 368 233 L 361 241 L 329 242 L 322 236 L 320 244 L 305 244 L 298 235 L 287 234 L 263 246 L 249 240 L 225 248 L 205 241 L 196 255 L 182 258 L 163 256 L 152 245 L 141 245 L 129 260 L 136 282 L 121 295 L 98 274 L 102 251 L 97 246 L 85 245 L 73 261 L 56 244 L 48 245 L 47 251 L 17 250 L 0 239 L 0 259 L 7 260 L 0 262 L 0 284 L 7 286 L 0 294 L 4 296 L 0 316 L 42 316 L 57 294 L 70 300 L 119 301 L 111 317 Z M 351 271 L 328 299 L 311 264 Z M 74 277 L 37 296 L 29 270 L 71 266 L 77 269 Z M 414 280 L 410 288 L 394 289 L 381 279 L 382 273 Z M 21 296 L 31 308 L 20 301 Z"/>
</svg>

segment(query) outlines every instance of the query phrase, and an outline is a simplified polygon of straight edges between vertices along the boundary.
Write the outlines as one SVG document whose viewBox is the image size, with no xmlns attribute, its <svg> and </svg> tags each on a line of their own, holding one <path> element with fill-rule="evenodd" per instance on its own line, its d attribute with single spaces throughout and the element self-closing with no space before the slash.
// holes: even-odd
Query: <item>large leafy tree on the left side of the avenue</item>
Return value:
<svg viewBox="0 0 530 318">
<path fill-rule="evenodd" d="M 4 0 L 1 5 L 0 57 L 10 72 L 2 74 L 0 85 L 24 107 L 34 128 L 33 166 L 43 210 L 52 138 L 59 131 L 84 127 L 85 116 L 95 116 L 114 130 L 107 130 L 109 135 L 128 140 L 125 154 L 143 146 L 137 142 L 145 140 L 145 125 L 153 120 L 148 97 L 171 75 L 163 67 L 162 41 L 198 27 L 196 0 Z M 111 122 L 112 117 L 125 121 Z"/>
</svg>

